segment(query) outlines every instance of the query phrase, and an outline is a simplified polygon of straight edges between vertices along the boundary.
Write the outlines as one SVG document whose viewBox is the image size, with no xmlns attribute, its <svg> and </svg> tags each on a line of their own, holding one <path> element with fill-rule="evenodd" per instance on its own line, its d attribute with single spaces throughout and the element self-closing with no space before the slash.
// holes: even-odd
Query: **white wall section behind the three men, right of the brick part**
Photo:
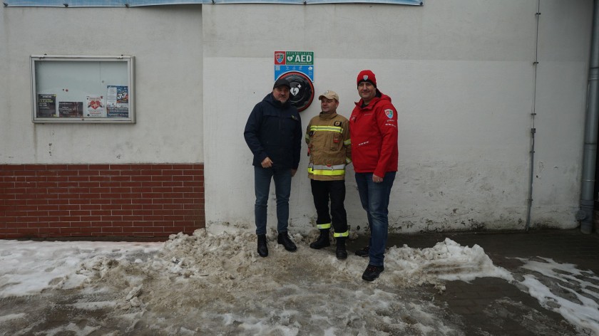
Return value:
<svg viewBox="0 0 599 336">
<path fill-rule="evenodd" d="M 272 88 L 272 52 L 295 50 L 314 51 L 314 87 L 337 91 L 342 115 L 358 100 L 364 68 L 393 99 L 392 231 L 523 229 L 533 109 L 532 224 L 575 227 L 593 1 L 540 3 L 536 95 L 537 0 L 204 6 L 207 221 L 254 229 L 252 156 L 242 132 Z M 314 101 L 301 113 L 304 127 L 318 112 Z M 291 231 L 313 228 L 306 166 L 302 154 Z M 349 224 L 363 228 L 351 169 L 346 183 Z M 269 214 L 274 227 L 274 194 Z"/>
</svg>

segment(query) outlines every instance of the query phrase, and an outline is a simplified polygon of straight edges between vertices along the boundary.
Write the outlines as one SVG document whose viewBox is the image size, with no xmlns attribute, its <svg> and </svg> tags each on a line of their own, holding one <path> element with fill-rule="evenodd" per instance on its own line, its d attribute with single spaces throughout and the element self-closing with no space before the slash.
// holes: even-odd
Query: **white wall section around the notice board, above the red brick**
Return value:
<svg viewBox="0 0 599 336">
<path fill-rule="evenodd" d="M 203 162 L 201 6 L 0 16 L 0 163 Z M 134 125 L 31 122 L 32 54 L 135 56 Z"/>
</svg>

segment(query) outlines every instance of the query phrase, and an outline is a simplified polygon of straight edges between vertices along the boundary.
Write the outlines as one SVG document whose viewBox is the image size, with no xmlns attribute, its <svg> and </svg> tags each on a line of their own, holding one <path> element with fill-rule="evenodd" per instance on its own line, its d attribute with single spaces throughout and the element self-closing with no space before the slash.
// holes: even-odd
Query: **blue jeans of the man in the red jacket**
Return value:
<svg viewBox="0 0 599 336">
<path fill-rule="evenodd" d="M 387 172 L 383 182 L 374 183 L 372 173 L 356 173 L 356 183 L 362 208 L 366 210 L 370 228 L 370 265 L 384 266 L 385 246 L 389 230 L 389 195 L 395 172 Z"/>
</svg>

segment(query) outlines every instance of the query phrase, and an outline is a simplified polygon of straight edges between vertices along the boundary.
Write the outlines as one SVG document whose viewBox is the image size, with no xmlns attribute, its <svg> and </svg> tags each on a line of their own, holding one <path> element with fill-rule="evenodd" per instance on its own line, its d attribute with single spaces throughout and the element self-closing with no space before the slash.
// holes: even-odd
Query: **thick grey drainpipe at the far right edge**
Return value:
<svg viewBox="0 0 599 336">
<path fill-rule="evenodd" d="M 599 122 L 599 0 L 593 1 L 593 31 L 590 43 L 587 108 L 585 115 L 585 145 L 583 149 L 583 176 L 580 191 L 580 210 L 576 219 L 580 231 L 593 231 L 593 205 L 595 203 L 595 160 L 597 156 L 597 128 Z"/>
</svg>

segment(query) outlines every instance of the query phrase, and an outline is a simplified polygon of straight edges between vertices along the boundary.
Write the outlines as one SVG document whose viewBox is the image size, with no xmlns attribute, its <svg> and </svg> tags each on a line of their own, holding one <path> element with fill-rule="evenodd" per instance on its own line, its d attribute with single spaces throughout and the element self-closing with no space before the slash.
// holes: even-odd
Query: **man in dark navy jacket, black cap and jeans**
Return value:
<svg viewBox="0 0 599 336">
<path fill-rule="evenodd" d="M 254 212 L 258 254 L 262 257 L 268 256 L 266 210 L 271 179 L 275 180 L 277 195 L 277 243 L 285 246 L 287 251 L 297 250 L 287 234 L 287 221 L 291 177 L 297 172 L 302 147 L 302 120 L 289 101 L 290 89 L 289 81 L 279 78 L 272 93 L 255 105 L 243 132 L 245 142 L 254 154 Z"/>
</svg>

